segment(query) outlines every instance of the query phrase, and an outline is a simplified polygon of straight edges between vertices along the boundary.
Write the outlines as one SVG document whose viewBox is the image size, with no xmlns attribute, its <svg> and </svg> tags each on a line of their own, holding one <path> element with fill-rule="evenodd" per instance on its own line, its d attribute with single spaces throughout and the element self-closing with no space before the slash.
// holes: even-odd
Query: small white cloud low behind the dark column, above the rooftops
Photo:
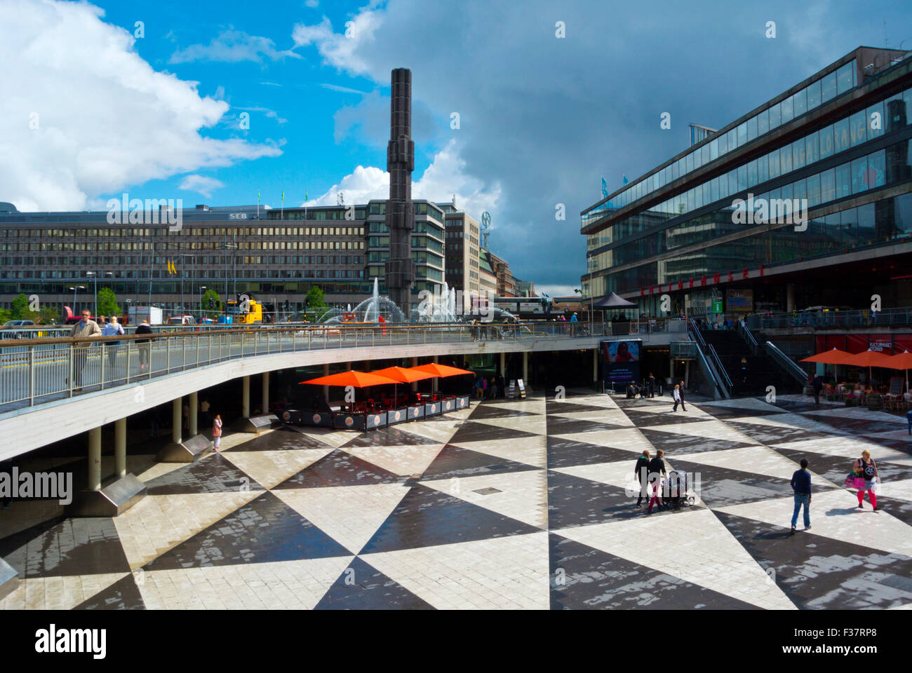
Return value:
<svg viewBox="0 0 912 673">
<path fill-rule="evenodd" d="M 388 199 L 389 173 L 374 166 L 358 166 L 322 196 L 310 200 L 306 205 L 335 205 L 338 192 L 345 194 L 346 203 Z M 489 187 L 465 172 L 465 160 L 461 157 L 456 140 L 451 140 L 434 155 L 430 166 L 420 179 L 412 183 L 411 188 L 413 199 L 432 202 L 450 202 L 455 194 L 457 208 L 468 212 L 476 220 L 481 218 L 483 211 L 491 212 L 492 219 L 496 220 L 501 192 L 500 184 Z"/>
</svg>

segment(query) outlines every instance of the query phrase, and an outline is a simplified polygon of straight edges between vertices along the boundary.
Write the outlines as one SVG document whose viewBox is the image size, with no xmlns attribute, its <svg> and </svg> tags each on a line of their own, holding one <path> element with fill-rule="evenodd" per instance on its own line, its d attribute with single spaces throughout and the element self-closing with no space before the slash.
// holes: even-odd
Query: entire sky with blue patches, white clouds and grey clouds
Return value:
<svg viewBox="0 0 912 673">
<path fill-rule="evenodd" d="M 492 252 L 568 295 L 603 176 L 613 192 L 689 123 L 855 47 L 912 47 L 910 19 L 877 0 L 0 0 L 0 201 L 383 199 L 390 70 L 410 67 L 413 197 L 490 212 Z"/>
</svg>

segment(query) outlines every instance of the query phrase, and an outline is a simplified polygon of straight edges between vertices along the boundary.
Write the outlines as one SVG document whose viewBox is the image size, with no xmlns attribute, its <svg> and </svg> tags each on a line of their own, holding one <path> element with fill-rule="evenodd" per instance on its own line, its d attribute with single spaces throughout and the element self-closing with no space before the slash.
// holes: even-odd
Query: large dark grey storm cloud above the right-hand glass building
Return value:
<svg viewBox="0 0 912 673">
<path fill-rule="evenodd" d="M 689 122 L 720 128 L 853 48 L 884 46 L 885 20 L 890 46 L 909 47 L 909 16 L 886 2 L 392 0 L 356 53 L 381 85 L 410 67 L 413 96 L 440 123 L 460 112 L 466 172 L 503 186 L 492 249 L 513 273 L 578 285 L 578 213 L 601 198 L 602 175 L 613 191 L 683 150 Z"/>
</svg>

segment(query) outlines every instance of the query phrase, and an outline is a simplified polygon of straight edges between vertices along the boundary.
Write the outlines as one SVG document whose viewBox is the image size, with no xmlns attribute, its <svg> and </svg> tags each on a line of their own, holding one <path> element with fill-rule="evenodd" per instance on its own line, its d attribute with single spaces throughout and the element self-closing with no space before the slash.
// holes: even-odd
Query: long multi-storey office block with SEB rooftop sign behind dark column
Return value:
<svg viewBox="0 0 912 673">
<path fill-rule="evenodd" d="M 373 290 L 374 276 L 385 291 L 385 207 L 199 205 L 183 209 L 181 229 L 172 232 L 151 212 L 141 219 L 154 223 L 109 223 L 107 211 L 18 212 L 0 203 L 0 306 L 25 293 L 61 309 L 90 307 L 96 285 L 110 287 L 121 305 L 145 305 L 151 295 L 166 310 L 192 307 L 202 287 L 297 310 L 316 285 L 327 303 L 356 304 Z M 420 290 L 443 280 L 444 216 L 433 203 L 414 208 L 417 305 Z"/>
</svg>

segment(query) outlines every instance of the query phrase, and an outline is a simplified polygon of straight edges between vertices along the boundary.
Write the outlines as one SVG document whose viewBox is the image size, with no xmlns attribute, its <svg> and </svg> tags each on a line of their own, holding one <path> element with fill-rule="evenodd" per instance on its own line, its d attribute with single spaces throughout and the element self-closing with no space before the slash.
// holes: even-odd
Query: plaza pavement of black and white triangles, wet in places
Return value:
<svg viewBox="0 0 912 673">
<path fill-rule="evenodd" d="M 905 419 L 798 396 L 530 397 L 233 435 L 192 465 L 135 459 L 149 495 L 117 519 L 0 539 L 22 578 L 0 608 L 909 608 L 910 447 Z M 637 508 L 644 449 L 691 473 L 691 506 Z M 843 486 L 865 449 L 876 513 Z M 802 458 L 813 527 L 791 535 Z"/>
</svg>

